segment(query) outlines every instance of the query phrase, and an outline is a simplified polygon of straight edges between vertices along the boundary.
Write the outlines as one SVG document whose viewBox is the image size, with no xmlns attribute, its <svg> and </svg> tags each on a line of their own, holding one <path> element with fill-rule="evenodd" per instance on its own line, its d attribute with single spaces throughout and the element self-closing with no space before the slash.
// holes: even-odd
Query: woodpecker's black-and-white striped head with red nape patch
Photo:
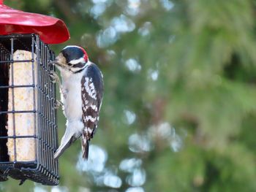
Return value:
<svg viewBox="0 0 256 192">
<path fill-rule="evenodd" d="M 56 64 L 59 69 L 76 73 L 84 69 L 88 61 L 89 58 L 86 50 L 79 46 L 70 45 L 61 50 L 53 63 Z"/>
</svg>

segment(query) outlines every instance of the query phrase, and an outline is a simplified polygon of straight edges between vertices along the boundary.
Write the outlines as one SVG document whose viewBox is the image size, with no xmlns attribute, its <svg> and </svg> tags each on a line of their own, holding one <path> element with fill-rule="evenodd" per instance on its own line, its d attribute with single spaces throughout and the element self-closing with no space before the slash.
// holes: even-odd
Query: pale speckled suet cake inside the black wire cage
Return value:
<svg viewBox="0 0 256 192">
<path fill-rule="evenodd" d="M 34 54 L 34 62 L 32 63 L 31 52 L 26 50 L 15 51 L 13 54 L 14 61 L 29 62 L 14 62 L 10 64 L 9 85 L 37 85 L 37 63 L 35 58 L 36 55 Z M 36 88 L 9 88 L 8 111 L 16 111 L 14 114 L 8 113 L 6 126 L 7 134 L 11 137 L 7 141 L 10 161 L 36 160 L 36 139 L 33 137 L 36 134 L 36 118 L 34 118 L 33 112 L 36 108 L 36 97 Z"/>
</svg>

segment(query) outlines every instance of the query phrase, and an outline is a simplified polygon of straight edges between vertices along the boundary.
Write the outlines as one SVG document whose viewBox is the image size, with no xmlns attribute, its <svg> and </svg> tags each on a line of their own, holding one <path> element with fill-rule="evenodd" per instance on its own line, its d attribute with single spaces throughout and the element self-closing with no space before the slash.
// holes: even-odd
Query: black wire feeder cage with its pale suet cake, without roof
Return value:
<svg viewBox="0 0 256 192">
<path fill-rule="evenodd" d="M 53 61 L 54 53 L 36 34 L 0 36 L 0 50 L 0 181 L 10 176 L 20 180 L 20 185 L 26 179 L 43 185 L 58 185 L 59 161 L 53 159 L 58 147 L 56 87 L 49 76 L 54 66 L 48 65 Z M 28 51 L 29 59 L 15 60 L 17 50 Z M 31 72 L 14 77 L 15 72 L 20 73 L 21 64 L 29 66 L 27 70 Z M 31 82 L 22 85 L 15 82 L 29 75 Z M 26 93 L 26 89 L 31 93 L 31 98 L 27 98 L 29 104 L 18 100 L 23 98 L 18 93 Z M 30 104 L 32 107 L 29 110 L 18 109 L 19 102 L 25 108 Z M 26 115 L 29 120 L 26 120 Z M 23 131 L 26 130 L 24 122 L 32 125 L 29 131 L 33 134 Z M 20 158 L 22 155 L 25 155 L 24 159 Z M 26 159 L 30 155 L 34 158 Z"/>
</svg>

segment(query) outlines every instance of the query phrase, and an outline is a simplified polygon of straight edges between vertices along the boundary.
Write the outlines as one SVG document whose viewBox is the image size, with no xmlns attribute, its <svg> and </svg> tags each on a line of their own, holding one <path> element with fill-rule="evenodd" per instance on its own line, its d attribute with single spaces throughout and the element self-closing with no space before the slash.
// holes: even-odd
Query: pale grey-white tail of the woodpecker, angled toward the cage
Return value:
<svg viewBox="0 0 256 192">
<path fill-rule="evenodd" d="M 59 156 L 64 153 L 64 150 L 67 149 L 67 147 L 69 147 L 72 142 L 75 142 L 76 138 L 73 136 L 73 134 L 70 134 L 69 131 L 66 129 L 66 132 L 64 134 L 64 136 L 61 139 L 61 145 L 59 146 L 59 148 L 56 150 L 56 152 L 54 153 L 54 158 L 59 158 Z"/>
</svg>

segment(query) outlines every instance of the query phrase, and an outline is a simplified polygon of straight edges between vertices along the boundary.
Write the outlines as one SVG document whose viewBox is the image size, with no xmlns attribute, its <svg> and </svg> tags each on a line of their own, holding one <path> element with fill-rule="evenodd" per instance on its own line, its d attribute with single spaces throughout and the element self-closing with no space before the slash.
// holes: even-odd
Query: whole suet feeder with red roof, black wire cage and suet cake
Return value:
<svg viewBox="0 0 256 192">
<path fill-rule="evenodd" d="M 69 39 L 64 22 L 12 9 L 0 0 L 0 181 L 8 176 L 59 184 L 54 53 Z"/>
</svg>

